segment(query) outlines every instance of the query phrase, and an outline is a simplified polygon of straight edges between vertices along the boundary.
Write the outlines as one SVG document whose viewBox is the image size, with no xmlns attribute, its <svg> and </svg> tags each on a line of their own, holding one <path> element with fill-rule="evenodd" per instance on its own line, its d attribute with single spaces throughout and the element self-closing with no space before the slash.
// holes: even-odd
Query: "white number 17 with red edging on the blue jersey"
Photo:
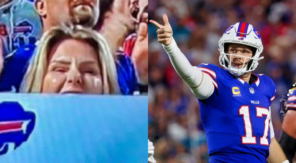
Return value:
<svg viewBox="0 0 296 163">
<path fill-rule="evenodd" d="M 245 135 L 242 136 L 242 144 L 257 144 L 257 138 L 256 136 L 253 136 L 252 122 L 250 119 L 250 107 L 248 105 L 242 105 L 239 108 L 239 115 L 242 116 L 244 121 Z M 266 118 L 264 121 L 263 136 L 260 137 L 260 145 L 268 146 L 267 136 L 268 136 L 270 115 L 267 108 L 256 106 L 256 116 L 263 118 L 263 115 L 265 115 Z"/>
</svg>

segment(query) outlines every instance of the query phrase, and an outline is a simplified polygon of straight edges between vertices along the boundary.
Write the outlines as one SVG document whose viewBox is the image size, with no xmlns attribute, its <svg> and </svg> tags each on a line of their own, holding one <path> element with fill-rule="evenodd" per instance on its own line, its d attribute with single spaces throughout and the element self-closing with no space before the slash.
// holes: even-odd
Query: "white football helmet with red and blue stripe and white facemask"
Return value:
<svg viewBox="0 0 296 163">
<path fill-rule="evenodd" d="M 252 57 L 227 54 L 227 49 L 225 49 L 225 44 L 227 43 L 247 45 L 252 47 L 253 49 L 256 49 L 256 52 L 253 52 Z M 220 65 L 226 68 L 234 76 L 241 76 L 244 73 L 255 70 L 255 68 L 258 66 L 258 60 L 264 58 L 259 58 L 260 54 L 263 51 L 262 40 L 259 32 L 251 24 L 243 22 L 231 25 L 229 28 L 226 29 L 221 39 L 219 40 L 219 51 Z M 231 58 L 231 56 L 239 56 L 244 58 L 242 68 L 231 66 L 231 60 L 228 59 L 227 55 L 230 56 L 229 58 Z M 250 59 L 248 63 L 245 62 L 247 58 Z"/>
</svg>

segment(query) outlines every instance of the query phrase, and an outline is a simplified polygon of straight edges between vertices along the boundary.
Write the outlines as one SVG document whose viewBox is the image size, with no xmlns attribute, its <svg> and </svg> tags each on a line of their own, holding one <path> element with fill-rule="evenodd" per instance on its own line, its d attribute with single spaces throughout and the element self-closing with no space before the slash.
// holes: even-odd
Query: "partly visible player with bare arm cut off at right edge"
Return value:
<svg viewBox="0 0 296 163">
<path fill-rule="evenodd" d="M 289 162 L 292 162 L 296 152 L 296 83 L 288 90 L 281 102 L 281 119 L 283 119 L 279 144 Z"/>
</svg>

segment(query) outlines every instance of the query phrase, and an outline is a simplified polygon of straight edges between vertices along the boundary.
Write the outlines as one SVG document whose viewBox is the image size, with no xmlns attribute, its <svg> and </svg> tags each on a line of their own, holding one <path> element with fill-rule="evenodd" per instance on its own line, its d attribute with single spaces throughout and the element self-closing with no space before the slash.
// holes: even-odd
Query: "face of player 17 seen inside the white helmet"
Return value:
<svg viewBox="0 0 296 163">
<path fill-rule="evenodd" d="M 245 57 L 252 57 L 252 49 L 247 45 L 242 44 L 230 44 L 228 47 L 228 54 L 234 54 L 239 56 L 231 56 L 228 55 L 228 59 L 231 61 L 231 66 L 242 68 L 244 64 Z M 240 57 L 242 56 L 242 57 Z M 247 63 L 249 62 L 249 58 L 246 58 L 245 66 L 247 66 Z"/>
</svg>

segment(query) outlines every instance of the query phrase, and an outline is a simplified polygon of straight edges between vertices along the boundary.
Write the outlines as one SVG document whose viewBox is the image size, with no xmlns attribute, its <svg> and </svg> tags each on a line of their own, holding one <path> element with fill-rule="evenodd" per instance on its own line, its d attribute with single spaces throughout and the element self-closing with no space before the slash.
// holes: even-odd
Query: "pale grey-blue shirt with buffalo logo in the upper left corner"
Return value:
<svg viewBox="0 0 296 163">
<path fill-rule="evenodd" d="M 32 1 L 15 0 L 0 12 L 0 38 L 4 43 L 4 57 L 10 57 L 16 49 L 35 44 L 41 36 L 42 26 Z"/>
</svg>

